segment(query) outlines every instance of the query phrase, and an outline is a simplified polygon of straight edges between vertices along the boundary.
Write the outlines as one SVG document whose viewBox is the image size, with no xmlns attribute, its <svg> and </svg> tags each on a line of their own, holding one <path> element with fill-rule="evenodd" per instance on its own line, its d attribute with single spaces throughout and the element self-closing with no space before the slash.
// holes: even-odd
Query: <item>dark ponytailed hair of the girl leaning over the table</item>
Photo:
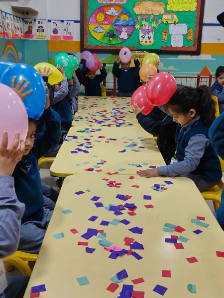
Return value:
<svg viewBox="0 0 224 298">
<path fill-rule="evenodd" d="M 194 109 L 207 126 L 211 126 L 216 119 L 216 102 L 211 97 L 210 89 L 204 85 L 197 88 L 188 86 L 178 88 L 168 105 L 180 114 Z"/>
</svg>

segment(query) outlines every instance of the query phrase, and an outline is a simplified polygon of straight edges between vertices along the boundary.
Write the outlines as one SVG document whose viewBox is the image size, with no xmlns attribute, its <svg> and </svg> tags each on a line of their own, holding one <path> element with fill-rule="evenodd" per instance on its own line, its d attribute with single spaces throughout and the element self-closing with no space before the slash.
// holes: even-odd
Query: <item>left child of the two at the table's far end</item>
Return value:
<svg viewBox="0 0 224 298">
<path fill-rule="evenodd" d="M 90 70 L 87 71 L 87 75 L 83 79 L 86 96 L 102 96 L 100 83 L 107 77 L 107 71 L 102 67 L 101 63 L 100 72 L 101 74 L 96 74 Z"/>
</svg>

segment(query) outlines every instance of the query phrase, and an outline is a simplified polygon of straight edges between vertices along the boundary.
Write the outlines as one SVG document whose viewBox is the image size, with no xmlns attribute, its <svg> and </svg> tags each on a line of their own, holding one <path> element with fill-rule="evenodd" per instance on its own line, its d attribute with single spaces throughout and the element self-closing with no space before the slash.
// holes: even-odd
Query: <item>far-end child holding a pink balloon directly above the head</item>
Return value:
<svg viewBox="0 0 224 298">
<path fill-rule="evenodd" d="M 132 75 L 139 68 L 140 63 L 134 55 L 131 58 L 134 60 L 135 67 L 130 67 L 130 61 L 128 63 L 121 62 L 119 57 L 113 64 L 112 73 L 117 77 L 117 96 L 132 96 L 134 92 Z M 119 69 L 119 65 L 121 69 Z"/>
</svg>

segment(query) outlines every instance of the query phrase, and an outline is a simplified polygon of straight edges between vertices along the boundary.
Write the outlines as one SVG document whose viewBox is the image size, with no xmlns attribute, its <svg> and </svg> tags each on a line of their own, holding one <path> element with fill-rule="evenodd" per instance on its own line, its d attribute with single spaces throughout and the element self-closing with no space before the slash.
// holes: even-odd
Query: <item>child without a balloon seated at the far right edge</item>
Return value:
<svg viewBox="0 0 224 298">
<path fill-rule="evenodd" d="M 211 87 L 212 95 L 218 97 L 220 114 L 224 112 L 224 66 L 216 70 L 216 81 Z"/>
</svg>

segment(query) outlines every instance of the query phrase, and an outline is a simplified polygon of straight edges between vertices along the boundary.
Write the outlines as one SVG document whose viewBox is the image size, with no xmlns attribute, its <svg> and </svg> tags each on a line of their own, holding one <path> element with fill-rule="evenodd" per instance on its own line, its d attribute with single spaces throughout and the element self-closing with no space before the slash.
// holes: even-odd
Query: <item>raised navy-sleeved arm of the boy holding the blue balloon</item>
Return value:
<svg viewBox="0 0 224 298">
<path fill-rule="evenodd" d="M 36 135 L 33 150 L 37 158 L 42 157 L 58 144 L 61 138 L 61 118 L 57 112 L 50 107 L 49 92 L 42 114 L 44 120 L 44 130 Z"/>
</svg>

